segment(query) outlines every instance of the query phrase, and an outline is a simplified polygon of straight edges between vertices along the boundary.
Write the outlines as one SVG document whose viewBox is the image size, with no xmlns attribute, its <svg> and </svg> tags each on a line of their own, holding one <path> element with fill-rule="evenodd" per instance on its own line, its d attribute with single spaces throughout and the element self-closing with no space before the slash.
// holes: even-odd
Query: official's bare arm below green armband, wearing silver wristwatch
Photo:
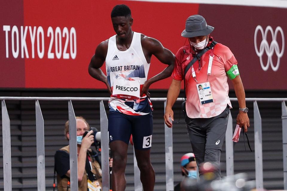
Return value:
<svg viewBox="0 0 287 191">
<path fill-rule="evenodd" d="M 236 94 L 236 97 L 238 99 L 238 104 L 240 108 L 245 108 L 245 91 L 244 87 L 240 78 L 240 75 L 236 76 L 232 81 L 234 91 Z M 247 127 L 250 126 L 249 124 L 249 118 L 247 113 L 243 113 L 243 111 L 239 111 L 237 118 L 236 118 L 237 124 L 239 124 L 239 127 L 244 127 L 244 132 L 247 132 Z"/>
</svg>

